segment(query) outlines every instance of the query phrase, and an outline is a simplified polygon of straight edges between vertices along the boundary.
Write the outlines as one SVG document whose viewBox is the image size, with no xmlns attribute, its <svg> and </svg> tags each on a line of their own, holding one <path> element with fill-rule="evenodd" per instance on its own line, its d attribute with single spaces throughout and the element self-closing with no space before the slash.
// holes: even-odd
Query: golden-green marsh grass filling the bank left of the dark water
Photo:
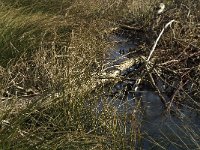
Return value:
<svg viewBox="0 0 200 150">
<path fill-rule="evenodd" d="M 126 135 L 112 106 L 97 114 L 102 94 L 90 95 L 91 75 L 112 46 L 106 36 L 125 15 L 120 7 L 1 1 L 1 94 L 9 92 L 1 101 L 2 149 L 133 148 L 135 130 Z M 36 96 L 24 97 L 28 89 Z"/>
</svg>

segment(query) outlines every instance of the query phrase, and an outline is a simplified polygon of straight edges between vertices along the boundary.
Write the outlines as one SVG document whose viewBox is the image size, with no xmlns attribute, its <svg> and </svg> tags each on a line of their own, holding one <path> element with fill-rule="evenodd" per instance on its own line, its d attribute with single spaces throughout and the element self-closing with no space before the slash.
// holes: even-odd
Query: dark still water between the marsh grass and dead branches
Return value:
<svg viewBox="0 0 200 150">
<path fill-rule="evenodd" d="M 110 50 L 107 66 L 119 64 L 128 59 L 129 49 L 134 48 L 134 42 L 122 37 L 112 37 L 117 47 Z M 118 60 L 118 61 L 115 61 Z M 200 149 L 200 116 L 198 112 L 185 106 L 176 107 L 173 112 L 166 111 L 158 94 L 148 87 L 133 91 L 135 81 L 123 81 L 112 88 L 108 96 L 108 104 L 114 106 L 119 114 L 134 113 L 140 101 L 142 113 L 139 113 L 143 138 L 138 143 L 142 149 Z M 114 96 L 113 96 L 114 95 Z M 98 110 L 103 107 L 99 103 Z M 175 108 L 176 107 L 176 108 Z"/>
</svg>

